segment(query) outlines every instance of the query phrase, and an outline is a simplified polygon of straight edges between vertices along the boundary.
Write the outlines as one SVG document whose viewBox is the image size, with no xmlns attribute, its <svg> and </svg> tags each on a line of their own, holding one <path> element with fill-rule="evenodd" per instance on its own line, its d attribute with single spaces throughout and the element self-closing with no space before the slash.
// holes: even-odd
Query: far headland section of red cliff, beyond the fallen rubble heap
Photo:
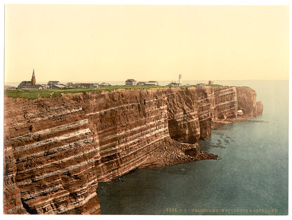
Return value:
<svg viewBox="0 0 292 220">
<path fill-rule="evenodd" d="M 248 87 L 169 89 L 167 99 L 169 135 L 175 141 L 197 143 L 211 136 L 216 124 L 258 117 L 263 104 Z M 242 110 L 243 115 L 237 111 Z"/>
</svg>

